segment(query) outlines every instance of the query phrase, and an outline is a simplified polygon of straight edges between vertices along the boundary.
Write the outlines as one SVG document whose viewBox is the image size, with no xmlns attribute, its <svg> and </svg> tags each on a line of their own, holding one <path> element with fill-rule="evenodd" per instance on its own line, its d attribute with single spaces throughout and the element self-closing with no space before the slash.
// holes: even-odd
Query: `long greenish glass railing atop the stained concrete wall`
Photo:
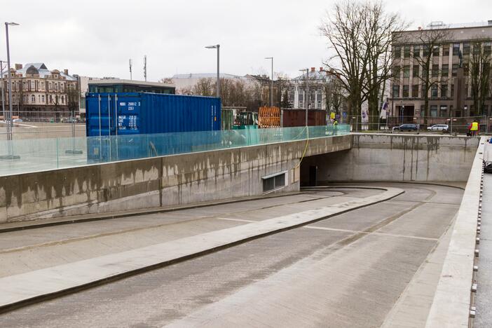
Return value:
<svg viewBox="0 0 492 328">
<path fill-rule="evenodd" d="M 0 141 L 0 176 L 334 135 L 349 125 Z"/>
</svg>

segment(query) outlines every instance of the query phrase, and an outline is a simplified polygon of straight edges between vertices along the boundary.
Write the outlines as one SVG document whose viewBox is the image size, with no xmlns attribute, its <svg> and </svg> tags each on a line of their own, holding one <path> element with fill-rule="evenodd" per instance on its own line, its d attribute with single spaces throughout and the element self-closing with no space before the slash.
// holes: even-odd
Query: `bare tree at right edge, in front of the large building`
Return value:
<svg viewBox="0 0 492 328">
<path fill-rule="evenodd" d="M 490 96 L 491 87 L 491 48 L 490 39 L 472 41 L 470 55 L 470 88 L 473 106 L 479 115 L 483 115 L 486 97 Z M 487 48 L 485 44 L 488 44 Z"/>
</svg>

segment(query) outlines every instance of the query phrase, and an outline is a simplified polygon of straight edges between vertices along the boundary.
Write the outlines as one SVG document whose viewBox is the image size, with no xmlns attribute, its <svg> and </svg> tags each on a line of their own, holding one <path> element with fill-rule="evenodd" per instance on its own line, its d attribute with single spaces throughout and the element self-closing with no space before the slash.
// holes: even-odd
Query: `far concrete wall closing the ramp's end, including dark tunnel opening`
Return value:
<svg viewBox="0 0 492 328">
<path fill-rule="evenodd" d="M 353 135 L 353 147 L 303 162 L 301 177 L 317 165 L 319 182 L 466 182 L 479 139 L 430 135 Z M 306 180 L 305 180 L 306 179 Z"/>
</svg>

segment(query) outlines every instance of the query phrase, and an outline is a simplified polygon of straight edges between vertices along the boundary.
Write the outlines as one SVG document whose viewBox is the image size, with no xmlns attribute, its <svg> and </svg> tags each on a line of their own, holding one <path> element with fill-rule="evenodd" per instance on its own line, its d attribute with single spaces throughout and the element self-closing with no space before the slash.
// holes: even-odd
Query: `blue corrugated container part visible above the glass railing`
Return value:
<svg viewBox="0 0 492 328">
<path fill-rule="evenodd" d="M 89 93 L 87 135 L 135 135 L 221 129 L 216 97 L 158 93 Z"/>
</svg>

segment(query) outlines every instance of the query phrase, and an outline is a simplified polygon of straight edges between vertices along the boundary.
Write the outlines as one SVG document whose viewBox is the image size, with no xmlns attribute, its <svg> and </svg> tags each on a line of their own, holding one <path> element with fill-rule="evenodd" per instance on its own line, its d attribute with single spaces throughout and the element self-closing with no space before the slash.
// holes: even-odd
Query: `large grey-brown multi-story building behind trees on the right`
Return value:
<svg viewBox="0 0 492 328">
<path fill-rule="evenodd" d="M 490 94 L 483 108 L 473 106 L 470 57 L 474 45 L 479 45 L 490 60 L 492 21 L 460 25 L 434 22 L 425 29 L 396 32 L 395 40 L 390 116 L 404 123 L 423 122 L 421 118 L 427 116 L 432 123 L 436 121 L 432 118 L 491 115 Z M 428 55 L 430 61 L 424 62 Z M 491 65 L 485 67 L 490 69 Z M 425 84 L 430 86 L 428 90 Z M 424 110 L 425 93 L 428 113 Z"/>
</svg>

